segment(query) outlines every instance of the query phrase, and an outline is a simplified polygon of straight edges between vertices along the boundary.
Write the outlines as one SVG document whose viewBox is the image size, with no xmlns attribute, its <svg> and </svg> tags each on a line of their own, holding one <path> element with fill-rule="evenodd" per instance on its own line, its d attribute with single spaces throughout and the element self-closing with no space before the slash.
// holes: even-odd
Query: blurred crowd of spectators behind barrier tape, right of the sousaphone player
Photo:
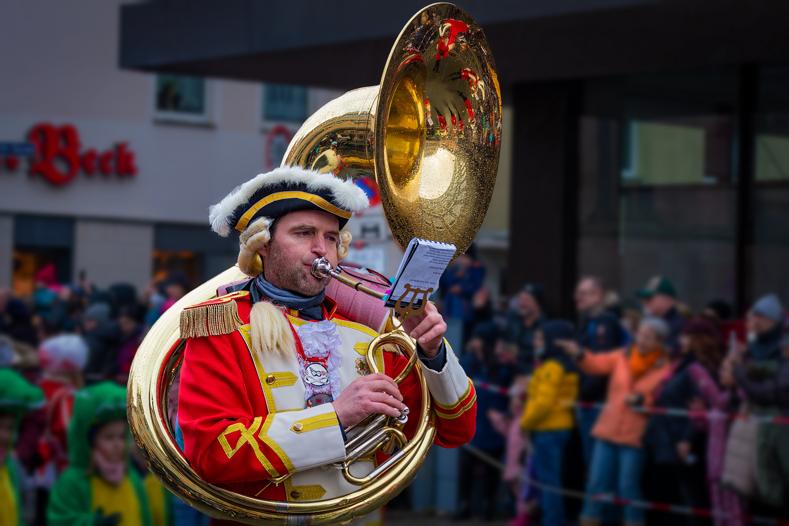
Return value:
<svg viewBox="0 0 789 526">
<path fill-rule="evenodd" d="M 469 280 L 474 264 L 451 268 L 454 282 Z M 445 288 L 445 298 L 473 305 L 484 289 L 484 270 L 475 271 L 477 289 Z M 527 284 L 507 308 L 488 302 L 477 307 L 484 318 L 464 319 L 469 336 L 458 354 L 477 390 L 477 434 L 462 452 L 458 518 L 507 509 L 510 526 L 789 517 L 789 334 L 780 299 L 760 297 L 734 319 L 724 300 L 691 311 L 664 276 L 630 294 L 620 301 L 585 276 L 577 319 L 555 319 L 544 289 Z M 502 462 L 503 473 L 485 457 Z M 473 492 L 480 477 L 484 489 Z M 712 517 L 626 505 L 633 501 Z"/>
</svg>

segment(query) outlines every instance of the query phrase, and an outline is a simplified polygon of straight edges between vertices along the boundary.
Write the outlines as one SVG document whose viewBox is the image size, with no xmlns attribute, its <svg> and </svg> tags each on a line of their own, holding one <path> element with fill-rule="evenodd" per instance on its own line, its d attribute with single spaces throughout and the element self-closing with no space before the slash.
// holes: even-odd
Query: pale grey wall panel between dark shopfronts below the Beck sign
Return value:
<svg viewBox="0 0 789 526">
<path fill-rule="evenodd" d="M 78 220 L 74 227 L 74 280 L 85 270 L 99 288 L 131 283 L 142 292 L 151 280 L 152 225 Z"/>
</svg>

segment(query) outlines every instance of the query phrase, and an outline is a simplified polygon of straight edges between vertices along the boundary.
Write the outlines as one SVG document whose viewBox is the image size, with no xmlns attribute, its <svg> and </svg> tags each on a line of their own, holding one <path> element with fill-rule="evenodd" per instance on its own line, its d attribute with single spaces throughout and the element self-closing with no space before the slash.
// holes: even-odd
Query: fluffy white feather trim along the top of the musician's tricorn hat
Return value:
<svg viewBox="0 0 789 526">
<path fill-rule="evenodd" d="M 335 206 L 354 214 L 365 211 L 370 206 L 365 191 L 354 185 L 350 179 L 343 181 L 331 173 L 318 173 L 300 166 L 286 166 L 260 173 L 252 180 L 237 186 L 225 199 L 212 205 L 208 209 L 211 229 L 220 236 L 227 237 L 234 219 L 233 212 L 237 207 L 249 201 L 260 188 L 281 184 L 303 184 L 308 191 L 328 190 Z"/>
</svg>

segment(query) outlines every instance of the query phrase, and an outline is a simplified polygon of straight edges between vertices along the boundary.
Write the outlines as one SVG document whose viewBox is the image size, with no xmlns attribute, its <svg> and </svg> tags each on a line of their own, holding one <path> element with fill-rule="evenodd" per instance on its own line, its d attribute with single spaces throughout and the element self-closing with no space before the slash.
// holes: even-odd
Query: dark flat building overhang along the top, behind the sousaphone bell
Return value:
<svg viewBox="0 0 789 526">
<path fill-rule="evenodd" d="M 122 68 L 335 88 L 378 84 L 424 0 L 155 0 L 121 8 Z M 789 59 L 784 0 L 468 0 L 503 88 Z"/>
</svg>

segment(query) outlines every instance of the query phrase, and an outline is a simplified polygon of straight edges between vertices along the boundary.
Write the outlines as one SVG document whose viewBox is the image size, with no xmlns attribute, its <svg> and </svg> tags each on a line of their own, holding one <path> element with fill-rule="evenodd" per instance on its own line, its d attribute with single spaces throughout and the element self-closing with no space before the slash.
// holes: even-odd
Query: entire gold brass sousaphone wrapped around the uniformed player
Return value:
<svg viewBox="0 0 789 526">
<path fill-rule="evenodd" d="M 380 86 L 349 91 L 308 118 L 291 142 L 282 166 L 304 166 L 337 177 L 376 177 L 394 237 L 453 243 L 465 252 L 477 235 L 495 185 L 501 140 L 499 82 L 482 29 L 452 4 L 421 9 L 398 36 Z M 315 272 L 376 297 L 331 266 Z M 435 435 L 431 397 L 416 359 L 416 345 L 395 330 L 372 341 L 368 358 L 394 344 L 409 358 L 421 382 L 422 407 L 410 408 L 417 431 L 408 439 L 402 422 L 373 415 L 349 433 L 342 465 L 356 491 L 338 498 L 282 502 L 254 498 L 207 483 L 178 448 L 170 425 L 170 386 L 178 375 L 184 341 L 181 309 L 214 297 L 221 285 L 245 278 L 231 267 L 166 311 L 140 345 L 129 375 L 129 423 L 148 467 L 164 486 L 196 509 L 249 524 L 335 524 L 380 508 L 416 476 Z M 350 289 L 349 289 L 350 290 Z M 353 291 L 351 291 L 353 292 Z M 422 302 L 424 304 L 424 302 Z M 368 364 L 376 360 L 368 359 Z M 382 447 L 397 452 L 368 476 L 347 466 Z M 284 477 L 283 477 L 284 478 Z M 275 480 L 279 483 L 279 480 Z"/>
</svg>

